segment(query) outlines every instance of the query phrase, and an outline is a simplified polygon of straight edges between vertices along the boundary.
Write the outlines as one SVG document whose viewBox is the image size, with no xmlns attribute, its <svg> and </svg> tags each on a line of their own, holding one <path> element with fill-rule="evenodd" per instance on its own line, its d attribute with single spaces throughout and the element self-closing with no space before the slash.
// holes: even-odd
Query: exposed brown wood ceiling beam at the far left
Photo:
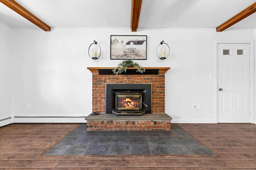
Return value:
<svg viewBox="0 0 256 170">
<path fill-rule="evenodd" d="M 17 12 L 27 20 L 35 24 L 39 28 L 42 28 L 44 31 L 51 31 L 50 26 L 48 26 L 42 20 L 34 16 L 34 14 L 26 10 L 23 6 L 18 4 L 15 0 L 0 0 L 0 2 L 2 2 L 4 5 L 8 6 L 12 10 L 14 10 L 15 12 Z"/>
</svg>

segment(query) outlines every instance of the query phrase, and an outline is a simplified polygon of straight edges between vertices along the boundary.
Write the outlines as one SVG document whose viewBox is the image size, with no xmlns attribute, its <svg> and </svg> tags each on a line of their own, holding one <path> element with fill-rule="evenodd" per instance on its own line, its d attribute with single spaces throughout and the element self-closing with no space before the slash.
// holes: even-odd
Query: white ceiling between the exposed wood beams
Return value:
<svg viewBox="0 0 256 170">
<path fill-rule="evenodd" d="M 130 28 L 131 0 L 16 0 L 52 28 Z M 143 0 L 138 28 L 216 28 L 255 0 Z M 36 27 L 0 3 L 0 21 Z M 256 13 L 232 28 L 256 28 Z"/>
</svg>

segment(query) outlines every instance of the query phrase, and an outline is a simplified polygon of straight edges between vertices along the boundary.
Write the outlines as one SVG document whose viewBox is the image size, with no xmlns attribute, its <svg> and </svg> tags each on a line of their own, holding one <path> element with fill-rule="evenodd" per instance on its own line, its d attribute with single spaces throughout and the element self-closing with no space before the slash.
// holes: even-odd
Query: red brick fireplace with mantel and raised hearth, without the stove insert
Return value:
<svg viewBox="0 0 256 170">
<path fill-rule="evenodd" d="M 165 73 L 170 67 L 144 67 L 148 73 L 135 72 L 115 75 L 111 73 L 114 67 L 88 67 L 92 72 L 92 111 L 105 113 L 106 112 L 106 83 L 152 83 L 152 109 L 151 114 L 144 114 L 145 120 L 142 116 L 135 116 L 137 120 L 129 120 L 131 117 L 122 117 L 124 120 L 108 119 L 113 114 L 102 114 L 102 119 L 94 120 L 97 115 L 90 115 L 86 117 L 87 130 L 170 130 L 171 117 L 165 113 Z M 102 70 L 103 73 L 102 73 Z M 136 68 L 129 67 L 128 70 L 135 71 Z M 150 71 L 157 71 L 151 73 Z M 106 72 L 106 73 L 105 73 Z M 161 114 L 162 120 L 152 118 L 154 115 Z M 164 115 L 162 115 L 164 114 Z M 102 116 L 100 115 L 100 116 Z M 150 115 L 152 120 L 148 120 L 147 115 Z M 164 119 L 163 117 L 164 116 Z M 166 119 L 167 118 L 167 119 Z M 104 120 L 105 119 L 105 120 Z"/>
</svg>

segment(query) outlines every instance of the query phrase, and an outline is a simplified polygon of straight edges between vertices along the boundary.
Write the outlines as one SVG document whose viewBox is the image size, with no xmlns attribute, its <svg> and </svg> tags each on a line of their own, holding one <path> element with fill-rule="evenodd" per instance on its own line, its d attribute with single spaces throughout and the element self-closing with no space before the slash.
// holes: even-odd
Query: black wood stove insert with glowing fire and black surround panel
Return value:
<svg viewBox="0 0 256 170">
<path fill-rule="evenodd" d="M 151 83 L 106 83 L 106 114 L 140 116 L 151 106 Z"/>
</svg>

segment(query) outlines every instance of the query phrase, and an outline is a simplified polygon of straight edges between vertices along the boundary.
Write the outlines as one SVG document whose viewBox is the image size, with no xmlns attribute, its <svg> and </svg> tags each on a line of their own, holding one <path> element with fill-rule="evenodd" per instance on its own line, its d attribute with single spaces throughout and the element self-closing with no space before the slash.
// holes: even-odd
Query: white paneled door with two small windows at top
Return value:
<svg viewBox="0 0 256 170">
<path fill-rule="evenodd" d="M 218 123 L 250 123 L 249 44 L 218 44 Z"/>
</svg>

